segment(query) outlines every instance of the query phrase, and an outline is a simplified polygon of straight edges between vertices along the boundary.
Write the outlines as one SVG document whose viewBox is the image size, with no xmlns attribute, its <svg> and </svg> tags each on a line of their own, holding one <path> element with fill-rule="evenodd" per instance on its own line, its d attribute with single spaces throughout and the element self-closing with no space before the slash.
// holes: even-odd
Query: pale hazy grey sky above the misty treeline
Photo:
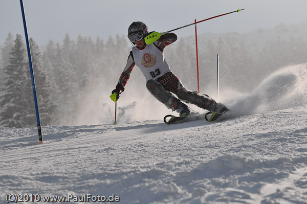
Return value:
<svg viewBox="0 0 307 204">
<path fill-rule="evenodd" d="M 61 42 L 65 33 L 74 40 L 79 34 L 93 40 L 127 35 L 133 21 L 145 22 L 149 31 L 165 32 L 238 8 L 246 10 L 201 22 L 198 33 L 246 33 L 307 20 L 307 0 L 24 0 L 24 7 L 29 36 L 39 45 L 50 39 Z M 9 32 L 25 35 L 19 0 L 0 0 L 0 44 Z M 190 26 L 176 34 L 194 32 Z"/>
</svg>

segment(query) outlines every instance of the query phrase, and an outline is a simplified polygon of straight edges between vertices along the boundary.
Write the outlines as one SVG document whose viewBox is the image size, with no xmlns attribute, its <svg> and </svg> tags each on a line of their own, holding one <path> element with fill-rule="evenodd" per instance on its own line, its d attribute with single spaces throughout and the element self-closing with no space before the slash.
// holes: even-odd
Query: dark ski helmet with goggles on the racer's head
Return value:
<svg viewBox="0 0 307 204">
<path fill-rule="evenodd" d="M 128 28 L 128 38 L 131 42 L 140 41 L 148 35 L 148 27 L 144 22 L 133 22 Z"/>
</svg>

